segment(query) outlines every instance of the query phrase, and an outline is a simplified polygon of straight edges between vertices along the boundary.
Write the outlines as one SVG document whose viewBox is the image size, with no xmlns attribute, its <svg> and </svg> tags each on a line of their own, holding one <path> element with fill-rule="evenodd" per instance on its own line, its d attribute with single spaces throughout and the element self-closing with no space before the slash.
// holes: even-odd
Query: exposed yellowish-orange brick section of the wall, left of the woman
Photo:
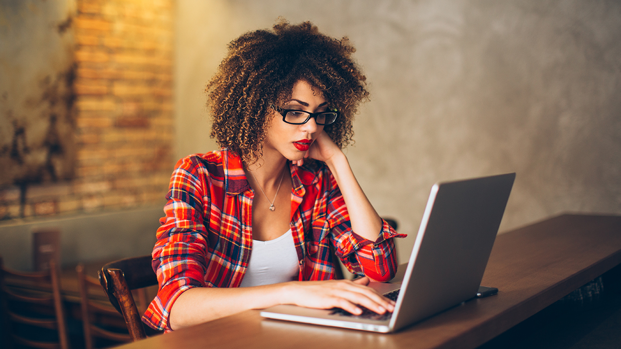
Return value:
<svg viewBox="0 0 621 349">
<path fill-rule="evenodd" d="M 75 176 L 0 189 L 0 219 L 161 204 L 173 168 L 173 0 L 78 0 Z"/>
</svg>

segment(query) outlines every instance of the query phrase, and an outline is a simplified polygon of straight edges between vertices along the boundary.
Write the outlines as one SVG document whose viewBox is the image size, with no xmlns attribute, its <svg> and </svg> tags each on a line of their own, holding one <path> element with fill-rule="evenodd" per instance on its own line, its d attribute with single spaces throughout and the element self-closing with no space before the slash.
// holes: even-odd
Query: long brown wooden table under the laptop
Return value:
<svg viewBox="0 0 621 349">
<path fill-rule="evenodd" d="M 499 235 L 472 299 L 397 333 L 262 319 L 258 310 L 122 348 L 476 348 L 621 264 L 621 217 L 561 215 Z"/>
</svg>

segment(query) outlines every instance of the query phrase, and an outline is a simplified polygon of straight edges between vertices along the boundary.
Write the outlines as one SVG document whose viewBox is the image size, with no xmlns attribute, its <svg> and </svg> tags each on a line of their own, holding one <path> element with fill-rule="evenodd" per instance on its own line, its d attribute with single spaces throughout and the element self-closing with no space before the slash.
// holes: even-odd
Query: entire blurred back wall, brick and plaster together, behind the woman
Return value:
<svg viewBox="0 0 621 349">
<path fill-rule="evenodd" d="M 433 183 L 510 171 L 501 232 L 621 214 L 621 2 L 9 0 L 0 5 L 0 255 L 150 253 L 173 166 L 217 146 L 204 86 L 282 16 L 347 36 L 371 101 L 347 156 L 409 258 Z"/>
</svg>

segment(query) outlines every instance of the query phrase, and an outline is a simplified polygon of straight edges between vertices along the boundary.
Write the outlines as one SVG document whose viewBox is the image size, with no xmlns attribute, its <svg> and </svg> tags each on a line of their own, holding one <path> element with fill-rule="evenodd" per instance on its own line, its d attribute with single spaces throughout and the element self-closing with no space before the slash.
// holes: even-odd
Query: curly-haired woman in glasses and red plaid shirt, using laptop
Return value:
<svg viewBox="0 0 621 349">
<path fill-rule="evenodd" d="M 379 314 L 365 285 L 396 272 L 393 237 L 341 147 L 368 96 L 347 39 L 281 22 L 229 45 L 207 84 L 217 152 L 176 165 L 153 249 L 160 289 L 143 321 L 175 330 L 297 304 Z M 337 261 L 361 278 L 334 280 Z"/>
</svg>

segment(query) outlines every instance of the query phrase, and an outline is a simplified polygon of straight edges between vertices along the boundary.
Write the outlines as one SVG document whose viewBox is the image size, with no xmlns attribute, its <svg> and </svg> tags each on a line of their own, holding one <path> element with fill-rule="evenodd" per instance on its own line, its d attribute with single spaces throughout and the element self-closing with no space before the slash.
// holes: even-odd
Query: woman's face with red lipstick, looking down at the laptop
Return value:
<svg viewBox="0 0 621 349">
<path fill-rule="evenodd" d="M 327 110 L 327 102 L 316 89 L 306 80 L 299 80 L 293 85 L 291 99 L 279 106 L 283 109 L 298 109 L 307 112 L 323 112 Z M 270 127 L 265 130 L 263 156 L 270 152 L 278 152 L 288 160 L 300 160 L 324 130 L 323 125 L 317 125 L 311 117 L 306 124 L 291 125 L 283 121 L 283 116 L 277 111 Z"/>
</svg>

